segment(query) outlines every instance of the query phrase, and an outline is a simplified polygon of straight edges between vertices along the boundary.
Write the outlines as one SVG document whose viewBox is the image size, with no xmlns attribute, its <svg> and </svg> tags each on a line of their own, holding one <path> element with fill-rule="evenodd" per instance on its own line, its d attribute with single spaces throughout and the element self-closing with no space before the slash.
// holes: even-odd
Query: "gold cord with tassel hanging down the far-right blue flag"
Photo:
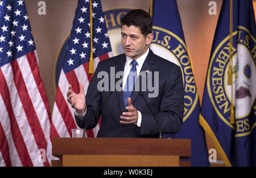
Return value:
<svg viewBox="0 0 256 178">
<path fill-rule="evenodd" d="M 229 71 L 228 84 L 231 85 L 231 110 L 230 110 L 230 124 L 234 124 L 234 108 L 233 108 L 233 0 L 230 0 L 229 11 Z"/>
</svg>

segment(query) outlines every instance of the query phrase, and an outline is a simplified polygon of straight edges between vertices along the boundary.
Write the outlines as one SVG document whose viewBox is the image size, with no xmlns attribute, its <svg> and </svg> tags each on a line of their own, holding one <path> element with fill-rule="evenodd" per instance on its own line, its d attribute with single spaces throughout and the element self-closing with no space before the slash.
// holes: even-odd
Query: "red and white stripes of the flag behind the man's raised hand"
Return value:
<svg viewBox="0 0 256 178">
<path fill-rule="evenodd" d="M 98 62 L 112 56 L 113 53 L 109 52 L 100 57 L 94 58 L 94 71 L 96 70 Z M 51 138 L 72 137 L 71 129 L 79 128 L 75 121 L 75 109 L 73 109 L 67 101 L 67 92 L 69 84 L 71 84 L 72 90 L 79 93 L 79 83 L 82 82 L 84 83 L 84 91 L 86 95 L 90 82 L 90 74 L 88 70 L 89 62 L 80 65 L 75 70 L 69 71 L 69 73 L 66 74 L 64 74 L 64 71 L 61 70 L 59 84 L 57 86 L 56 99 L 53 105 Z M 86 130 L 86 136 L 96 137 L 99 129 L 100 122 L 94 129 Z"/>
</svg>

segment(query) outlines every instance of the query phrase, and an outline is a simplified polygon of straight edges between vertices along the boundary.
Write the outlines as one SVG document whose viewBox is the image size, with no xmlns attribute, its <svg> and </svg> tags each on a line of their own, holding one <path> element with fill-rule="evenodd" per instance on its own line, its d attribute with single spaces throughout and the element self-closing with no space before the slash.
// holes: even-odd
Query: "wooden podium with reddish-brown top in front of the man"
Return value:
<svg viewBox="0 0 256 178">
<path fill-rule="evenodd" d="M 191 166 L 190 139 L 53 138 L 52 166 L 169 167 Z"/>
</svg>

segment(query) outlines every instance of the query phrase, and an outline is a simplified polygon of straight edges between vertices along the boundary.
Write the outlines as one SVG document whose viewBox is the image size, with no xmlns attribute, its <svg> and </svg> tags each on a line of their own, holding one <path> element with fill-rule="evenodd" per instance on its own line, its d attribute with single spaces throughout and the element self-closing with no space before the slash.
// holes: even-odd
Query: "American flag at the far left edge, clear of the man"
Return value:
<svg viewBox="0 0 256 178">
<path fill-rule="evenodd" d="M 25 3 L 0 1 L 0 166 L 50 166 L 50 126 Z"/>
</svg>

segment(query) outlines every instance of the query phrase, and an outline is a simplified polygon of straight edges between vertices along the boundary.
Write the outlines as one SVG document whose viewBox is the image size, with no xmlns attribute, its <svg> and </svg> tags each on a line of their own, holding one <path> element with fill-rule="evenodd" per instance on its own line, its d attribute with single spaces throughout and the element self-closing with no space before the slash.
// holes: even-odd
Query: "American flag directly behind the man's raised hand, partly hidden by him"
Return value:
<svg viewBox="0 0 256 178">
<path fill-rule="evenodd" d="M 90 7 L 92 12 L 90 12 Z M 90 15 L 92 15 L 92 24 Z M 92 34 L 90 33 L 91 25 Z M 99 61 L 113 56 L 112 49 L 100 0 L 79 0 L 53 105 L 51 138 L 72 137 L 71 129 L 78 128 L 74 117 L 75 109 L 68 103 L 66 95 L 69 84 L 73 91 L 79 93 L 80 82 L 84 83 L 86 94 L 92 77 L 92 74 L 89 74 L 91 40 L 93 70 L 95 70 Z M 87 136 L 96 137 L 99 128 L 100 124 L 93 130 L 86 131 Z"/>
</svg>

